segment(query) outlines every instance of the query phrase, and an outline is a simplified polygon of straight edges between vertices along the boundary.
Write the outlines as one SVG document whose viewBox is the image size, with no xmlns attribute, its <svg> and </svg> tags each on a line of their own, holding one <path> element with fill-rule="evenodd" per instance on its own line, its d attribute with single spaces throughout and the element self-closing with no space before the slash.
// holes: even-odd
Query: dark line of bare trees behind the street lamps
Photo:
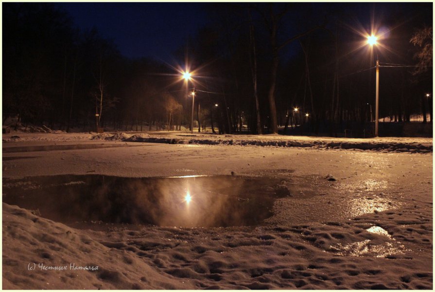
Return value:
<svg viewBox="0 0 435 292">
<path fill-rule="evenodd" d="M 429 111 L 432 122 L 432 15 L 416 14 L 425 3 L 385 3 L 385 39 L 372 51 L 356 33 L 371 30 L 355 20 L 363 4 L 329 4 L 206 5 L 209 24 L 174 52 L 195 72 L 183 87 L 171 66 L 122 56 L 52 3 L 4 3 L 3 117 L 67 131 L 189 128 L 194 88 L 198 130 L 277 133 L 308 123 L 337 135 L 373 121 L 379 58 L 380 117 L 424 113 L 426 122 Z"/>
</svg>

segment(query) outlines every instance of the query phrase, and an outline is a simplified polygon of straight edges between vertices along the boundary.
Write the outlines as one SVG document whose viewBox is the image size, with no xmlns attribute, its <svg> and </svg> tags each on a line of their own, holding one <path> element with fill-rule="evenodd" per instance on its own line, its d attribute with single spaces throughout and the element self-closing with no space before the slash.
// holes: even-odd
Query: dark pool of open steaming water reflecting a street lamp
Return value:
<svg viewBox="0 0 435 292">
<path fill-rule="evenodd" d="M 60 175 L 3 179 L 3 202 L 66 224 L 154 224 L 178 227 L 253 226 L 290 195 L 269 178 L 235 176 L 122 178 Z"/>
</svg>

